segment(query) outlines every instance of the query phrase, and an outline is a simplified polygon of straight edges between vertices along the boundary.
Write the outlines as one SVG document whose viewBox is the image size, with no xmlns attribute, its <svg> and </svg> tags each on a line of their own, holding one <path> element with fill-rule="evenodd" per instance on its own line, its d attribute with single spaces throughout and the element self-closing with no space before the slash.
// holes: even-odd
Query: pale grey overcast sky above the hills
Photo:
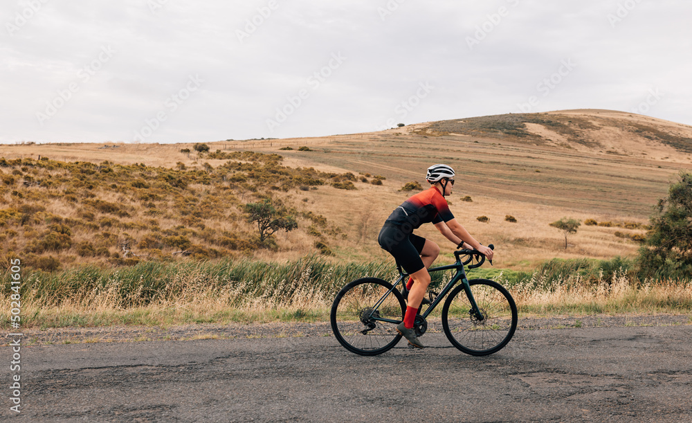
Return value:
<svg viewBox="0 0 692 423">
<path fill-rule="evenodd" d="M 0 6 L 0 143 L 370 132 L 518 111 L 692 125 L 689 0 Z"/>
</svg>

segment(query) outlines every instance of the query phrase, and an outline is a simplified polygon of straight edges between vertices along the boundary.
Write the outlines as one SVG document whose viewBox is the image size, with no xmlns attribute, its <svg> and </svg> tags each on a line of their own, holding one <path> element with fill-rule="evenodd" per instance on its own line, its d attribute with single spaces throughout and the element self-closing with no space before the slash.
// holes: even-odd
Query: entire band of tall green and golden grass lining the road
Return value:
<svg viewBox="0 0 692 423">
<path fill-rule="evenodd" d="M 495 272 L 493 274 L 493 272 Z M 449 272 L 433 273 L 441 285 Z M 336 293 L 351 280 L 394 280 L 389 261 L 332 263 L 219 260 L 141 262 L 133 267 L 36 271 L 22 282 L 22 327 L 174 325 L 230 321 L 327 321 Z M 508 287 L 522 314 L 692 313 L 689 280 L 641 281 L 624 259 L 551 260 L 534 272 L 476 269 Z M 3 277 L 0 326 L 9 325 L 10 283 Z"/>
</svg>

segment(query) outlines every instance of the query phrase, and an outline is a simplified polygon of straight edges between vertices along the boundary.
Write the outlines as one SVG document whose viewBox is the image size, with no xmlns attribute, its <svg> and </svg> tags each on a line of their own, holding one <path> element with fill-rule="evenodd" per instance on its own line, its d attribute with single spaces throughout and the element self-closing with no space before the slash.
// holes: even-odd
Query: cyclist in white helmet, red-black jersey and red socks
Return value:
<svg viewBox="0 0 692 423">
<path fill-rule="evenodd" d="M 430 284 L 428 268 L 437 258 L 439 246 L 415 235 L 413 230 L 421 224 L 432 223 L 457 248 L 477 249 L 490 260 L 493 259 L 493 250 L 477 242 L 449 210 L 444 197 L 452 193 L 454 175 L 454 170 L 448 165 L 430 166 L 426 173 L 430 189 L 413 195 L 395 208 L 377 239 L 380 246 L 392 254 L 411 276 L 406 284 L 409 290 L 408 307 L 403 322 L 397 326 L 397 332 L 417 348 L 424 348 L 424 345 L 416 336 L 413 323 Z"/>
</svg>

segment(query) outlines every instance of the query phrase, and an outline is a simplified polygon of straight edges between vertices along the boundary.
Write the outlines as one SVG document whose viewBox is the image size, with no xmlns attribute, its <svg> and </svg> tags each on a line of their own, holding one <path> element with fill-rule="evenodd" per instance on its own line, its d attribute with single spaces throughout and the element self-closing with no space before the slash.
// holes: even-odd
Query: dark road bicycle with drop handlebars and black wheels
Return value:
<svg viewBox="0 0 692 423">
<path fill-rule="evenodd" d="M 514 299 L 498 282 L 466 279 L 466 264 L 477 261 L 468 266 L 475 269 L 485 262 L 480 251 L 462 249 L 454 251 L 454 256 L 454 264 L 428 269 L 430 273 L 446 270 L 456 270 L 456 273 L 439 294 L 428 291 L 430 304 L 426 309 L 422 305 L 419 308 L 414 323 L 416 334 L 423 336 L 428 325 L 439 332 L 441 323 L 447 339 L 462 352 L 475 356 L 498 352 L 512 339 L 517 327 Z M 399 279 L 394 285 L 378 278 L 361 278 L 336 294 L 331 305 L 331 330 L 347 350 L 361 355 L 382 354 L 401 340 L 396 326 L 406 314 L 403 281 L 410 275 L 402 271 L 399 263 L 397 269 Z M 457 282 L 461 284 L 455 287 Z M 400 283 L 401 291 L 397 289 Z M 433 314 L 445 296 L 441 313 Z"/>
</svg>

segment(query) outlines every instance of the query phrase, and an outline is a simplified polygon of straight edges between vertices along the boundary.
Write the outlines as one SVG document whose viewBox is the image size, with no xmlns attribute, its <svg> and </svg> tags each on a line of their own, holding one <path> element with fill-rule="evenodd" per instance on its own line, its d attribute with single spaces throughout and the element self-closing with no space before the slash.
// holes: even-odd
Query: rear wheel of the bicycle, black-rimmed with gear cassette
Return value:
<svg viewBox="0 0 692 423">
<path fill-rule="evenodd" d="M 349 283 L 331 305 L 331 330 L 347 350 L 361 355 L 382 354 L 397 345 L 401 335 L 396 324 L 376 321 L 372 317 L 401 322 L 406 303 L 399 289 L 377 278 L 362 278 Z M 389 293 L 389 294 L 388 294 Z M 383 302 L 374 309 L 383 298 Z"/>
</svg>

